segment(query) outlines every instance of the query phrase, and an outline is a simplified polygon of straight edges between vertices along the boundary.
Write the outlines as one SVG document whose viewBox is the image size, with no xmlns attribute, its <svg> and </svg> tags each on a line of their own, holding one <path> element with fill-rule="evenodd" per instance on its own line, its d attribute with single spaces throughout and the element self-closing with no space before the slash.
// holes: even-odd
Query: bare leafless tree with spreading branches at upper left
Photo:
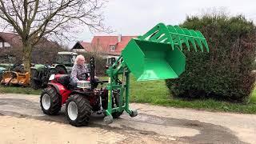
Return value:
<svg viewBox="0 0 256 144">
<path fill-rule="evenodd" d="M 102 25 L 105 0 L 0 0 L 2 29 L 14 29 L 22 38 L 23 64 L 30 71 L 31 51 L 43 38 L 63 40 L 81 25 L 106 30 Z M 81 31 L 81 30 L 80 30 Z"/>
</svg>

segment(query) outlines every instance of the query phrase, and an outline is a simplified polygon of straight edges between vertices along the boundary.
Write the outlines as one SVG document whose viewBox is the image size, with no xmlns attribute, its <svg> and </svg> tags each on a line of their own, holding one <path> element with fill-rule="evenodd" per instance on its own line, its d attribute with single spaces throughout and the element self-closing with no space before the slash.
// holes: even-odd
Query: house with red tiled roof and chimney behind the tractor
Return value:
<svg viewBox="0 0 256 144">
<path fill-rule="evenodd" d="M 105 58 L 118 58 L 131 38 L 137 36 L 94 36 L 91 42 L 77 42 L 72 50 L 97 53 Z"/>
</svg>

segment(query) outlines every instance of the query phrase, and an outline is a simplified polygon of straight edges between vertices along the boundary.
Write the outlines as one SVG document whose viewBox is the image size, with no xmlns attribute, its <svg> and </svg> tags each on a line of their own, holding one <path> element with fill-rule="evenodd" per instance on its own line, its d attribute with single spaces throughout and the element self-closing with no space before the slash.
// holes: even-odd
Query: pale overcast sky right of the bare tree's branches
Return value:
<svg viewBox="0 0 256 144">
<path fill-rule="evenodd" d="M 91 34 L 89 30 L 78 34 L 78 41 L 90 42 L 94 35 L 145 34 L 158 22 L 168 25 L 182 23 L 186 15 L 201 14 L 203 10 L 225 9 L 231 15 L 244 14 L 256 22 L 254 0 L 109 0 L 103 9 L 106 26 L 113 34 Z M 74 46 L 74 42 L 70 42 Z"/>
</svg>

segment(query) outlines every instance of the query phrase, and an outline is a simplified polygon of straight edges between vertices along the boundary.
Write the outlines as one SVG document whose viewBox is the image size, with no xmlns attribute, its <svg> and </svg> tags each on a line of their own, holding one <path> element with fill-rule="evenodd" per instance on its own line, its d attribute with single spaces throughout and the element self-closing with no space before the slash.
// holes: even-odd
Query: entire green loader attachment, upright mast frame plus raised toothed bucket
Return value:
<svg viewBox="0 0 256 144">
<path fill-rule="evenodd" d="M 110 79 L 105 122 L 113 122 L 112 115 L 122 114 L 124 110 L 131 117 L 137 115 L 136 110 L 129 108 L 130 73 L 137 81 L 178 78 L 186 65 L 183 47 L 209 52 L 206 38 L 200 31 L 163 23 L 138 38 L 132 38 L 118 60 L 106 71 Z M 118 95 L 114 91 L 118 91 Z M 112 105 L 114 101 L 118 101 L 117 106 Z"/>
</svg>

